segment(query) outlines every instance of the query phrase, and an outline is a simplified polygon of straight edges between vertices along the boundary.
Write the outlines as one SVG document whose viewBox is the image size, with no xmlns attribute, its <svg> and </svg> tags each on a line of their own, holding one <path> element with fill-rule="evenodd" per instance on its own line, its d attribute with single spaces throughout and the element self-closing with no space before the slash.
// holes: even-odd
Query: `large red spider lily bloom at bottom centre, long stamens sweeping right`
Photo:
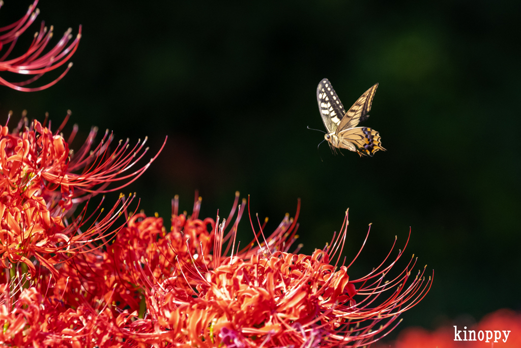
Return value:
<svg viewBox="0 0 521 348">
<path fill-rule="evenodd" d="M 172 346 L 367 345 L 394 328 L 398 316 L 420 301 L 430 288 L 430 277 L 425 281 L 423 272 L 406 285 L 413 260 L 398 277 L 384 281 L 402 251 L 389 265 L 384 266 L 390 254 L 365 277 L 349 279 L 347 270 L 352 262 L 349 266 L 339 265 L 348 227 L 347 212 L 341 233 L 311 256 L 289 252 L 298 237 L 298 208 L 295 219 L 287 215 L 268 237 L 260 223 L 255 231 L 250 217 L 255 239 L 239 250 L 235 237 L 241 206 L 231 229 L 226 236 L 224 233 L 237 203 L 238 196 L 228 220 L 221 224 L 218 220 L 215 224 L 201 221 L 200 234 L 184 234 L 183 251 L 190 258 L 178 256 L 177 265 L 173 265 L 176 275 L 155 278 L 157 283 L 150 283 L 148 313 L 157 320 L 156 332 Z M 172 216 L 172 232 L 176 233 L 185 220 L 178 220 L 175 212 Z M 208 236 L 206 226 L 212 225 L 214 230 Z M 212 251 L 208 250 L 208 237 L 213 237 L 213 252 L 208 252 Z M 170 248 L 179 255 L 173 243 Z M 226 256 L 229 250 L 230 256 Z M 138 256 L 134 259 L 138 260 Z M 143 281 L 145 274 L 141 275 Z"/>
</svg>

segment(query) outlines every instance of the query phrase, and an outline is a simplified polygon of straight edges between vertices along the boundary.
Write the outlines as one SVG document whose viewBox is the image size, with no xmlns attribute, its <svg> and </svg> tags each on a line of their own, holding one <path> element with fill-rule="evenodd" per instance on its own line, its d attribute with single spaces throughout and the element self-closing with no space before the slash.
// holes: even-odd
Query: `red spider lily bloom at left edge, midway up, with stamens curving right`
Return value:
<svg viewBox="0 0 521 348">
<path fill-rule="evenodd" d="M 157 157 L 156 154 L 146 165 L 129 173 L 148 150 L 143 150 L 146 138 L 131 149 L 128 140 L 120 141 L 110 152 L 113 136 L 107 130 L 92 149 L 97 128 L 91 130 L 80 151 L 73 155 L 69 143 L 77 127 L 66 142 L 57 135 L 64 124 L 55 135 L 50 125 L 44 127 L 38 121 L 30 125 L 27 121 L 20 122 L 11 134 L 7 126 L 0 126 L 0 262 L 5 268 L 11 267 L 7 260 L 23 262 L 29 267 L 30 276 L 35 275 L 32 258 L 40 261 L 56 278 L 57 263 L 89 251 L 93 242 L 101 241 L 96 247 L 106 244 L 106 238 L 122 227 L 110 229 L 117 218 L 126 213 L 133 196 L 126 199 L 120 195 L 103 216 L 103 209 L 99 209 L 101 203 L 90 216 L 86 214 L 88 200 L 95 194 L 127 186 Z M 115 181 L 125 182 L 106 189 Z M 78 217 L 69 221 L 68 217 L 83 201 L 87 203 Z"/>
</svg>

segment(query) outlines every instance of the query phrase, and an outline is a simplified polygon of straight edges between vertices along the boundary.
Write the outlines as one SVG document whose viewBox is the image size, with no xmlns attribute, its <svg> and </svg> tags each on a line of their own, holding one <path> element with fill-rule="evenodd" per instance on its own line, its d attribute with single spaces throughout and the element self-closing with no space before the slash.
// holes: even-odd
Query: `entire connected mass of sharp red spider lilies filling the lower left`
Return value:
<svg viewBox="0 0 521 348">
<path fill-rule="evenodd" d="M 38 121 L 20 122 L 11 133 L 2 127 L 0 344 L 362 346 L 392 330 L 430 289 L 423 272 L 411 277 L 414 258 L 386 281 L 403 251 L 350 279 L 353 262 L 340 264 L 347 212 L 324 249 L 307 256 L 299 245 L 291 252 L 300 203 L 295 219 L 286 215 L 269 235 L 267 220 L 255 229 L 250 215 L 254 240 L 242 249 L 237 230 L 246 201 L 239 205 L 239 193 L 222 222 L 199 219 L 200 198 L 191 215 L 179 214 L 176 197 L 167 232 L 161 218 L 129 212 L 131 199 L 121 195 L 104 217 L 91 213 L 95 222 L 87 225 L 90 196 L 146 169 L 125 172 L 144 154 L 143 143 L 128 151 L 120 141 L 109 152 L 111 135 L 94 147 L 93 128 L 71 157 L 59 130 L 53 135 Z M 72 218 L 80 202 L 85 207 Z M 126 224 L 109 232 L 120 215 Z"/>
</svg>

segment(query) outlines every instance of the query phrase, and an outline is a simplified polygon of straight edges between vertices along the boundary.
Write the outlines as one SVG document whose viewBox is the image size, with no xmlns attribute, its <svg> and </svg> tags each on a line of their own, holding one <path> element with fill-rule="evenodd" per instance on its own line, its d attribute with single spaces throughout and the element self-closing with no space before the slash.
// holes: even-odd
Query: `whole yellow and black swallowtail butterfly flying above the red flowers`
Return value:
<svg viewBox="0 0 521 348">
<path fill-rule="evenodd" d="M 375 97 L 378 83 L 369 88 L 362 97 L 351 106 L 348 111 L 344 110 L 342 102 L 331 86 L 328 79 L 320 81 L 317 87 L 317 102 L 322 121 L 328 133 L 324 136 L 331 150 L 348 149 L 362 155 L 373 156 L 382 148 L 380 134 L 373 128 L 356 127 L 359 122 L 365 121 L 371 111 L 371 103 Z"/>
</svg>

